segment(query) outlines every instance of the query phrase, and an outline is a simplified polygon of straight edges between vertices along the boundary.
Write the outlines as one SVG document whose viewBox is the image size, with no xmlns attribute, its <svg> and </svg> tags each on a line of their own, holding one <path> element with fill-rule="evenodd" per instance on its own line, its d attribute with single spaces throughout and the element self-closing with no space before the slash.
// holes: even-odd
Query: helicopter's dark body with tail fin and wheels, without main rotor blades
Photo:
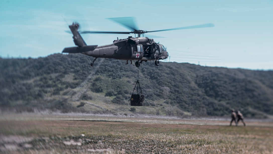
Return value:
<svg viewBox="0 0 273 154">
<path fill-rule="evenodd" d="M 78 32 L 79 25 L 72 24 L 69 28 L 73 34 L 73 41 L 77 47 L 64 48 L 64 53 L 82 53 L 92 56 L 95 59 L 91 63 L 93 66 L 97 58 L 111 58 L 121 60 L 136 60 L 136 67 L 143 61 L 155 60 L 155 65 L 159 65 L 159 60 L 168 58 L 168 52 L 162 44 L 158 44 L 148 37 L 114 40 L 108 45 L 87 45 Z"/>
</svg>

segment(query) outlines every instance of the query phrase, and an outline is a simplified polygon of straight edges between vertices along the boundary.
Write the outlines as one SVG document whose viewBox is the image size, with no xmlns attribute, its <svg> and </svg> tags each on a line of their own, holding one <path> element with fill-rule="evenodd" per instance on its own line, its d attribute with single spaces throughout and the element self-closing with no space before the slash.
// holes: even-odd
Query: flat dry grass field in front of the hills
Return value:
<svg viewBox="0 0 273 154">
<path fill-rule="evenodd" d="M 273 153 L 273 123 L 2 114 L 1 153 Z"/>
</svg>

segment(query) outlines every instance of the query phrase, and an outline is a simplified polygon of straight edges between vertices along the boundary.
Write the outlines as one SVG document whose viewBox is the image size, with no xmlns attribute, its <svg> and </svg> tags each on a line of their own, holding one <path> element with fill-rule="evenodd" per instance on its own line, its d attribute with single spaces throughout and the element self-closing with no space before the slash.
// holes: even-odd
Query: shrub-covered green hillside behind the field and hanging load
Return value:
<svg viewBox="0 0 273 154">
<path fill-rule="evenodd" d="M 109 112 L 226 116 L 230 109 L 246 117 L 273 115 L 273 71 L 204 67 L 189 63 L 143 62 L 138 70 L 125 61 L 54 54 L 37 59 L 0 58 L 2 109 L 51 109 L 63 112 Z M 85 80 L 90 79 L 82 84 Z M 130 106 L 139 79 L 143 107 Z"/>
</svg>

